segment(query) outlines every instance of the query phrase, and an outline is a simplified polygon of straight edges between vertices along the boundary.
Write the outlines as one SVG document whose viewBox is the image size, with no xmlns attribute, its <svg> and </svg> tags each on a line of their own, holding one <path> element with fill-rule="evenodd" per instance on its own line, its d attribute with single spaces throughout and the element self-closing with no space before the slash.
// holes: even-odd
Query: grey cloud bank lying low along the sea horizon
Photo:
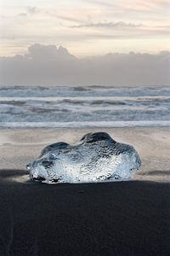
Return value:
<svg viewBox="0 0 170 256">
<path fill-rule="evenodd" d="M 78 59 L 55 45 L 33 44 L 28 54 L 0 58 L 3 85 L 170 84 L 170 52 L 107 54 Z"/>
</svg>

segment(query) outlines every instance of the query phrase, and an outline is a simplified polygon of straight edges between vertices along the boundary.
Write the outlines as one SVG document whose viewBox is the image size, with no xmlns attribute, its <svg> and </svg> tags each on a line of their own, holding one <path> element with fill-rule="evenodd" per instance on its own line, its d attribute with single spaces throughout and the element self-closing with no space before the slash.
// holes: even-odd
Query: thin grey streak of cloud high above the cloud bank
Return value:
<svg viewBox="0 0 170 256">
<path fill-rule="evenodd" d="M 99 27 L 99 28 L 114 28 L 114 27 L 137 27 L 142 24 L 125 23 L 122 21 L 118 22 L 99 22 L 99 23 L 87 23 L 71 27 Z"/>
</svg>

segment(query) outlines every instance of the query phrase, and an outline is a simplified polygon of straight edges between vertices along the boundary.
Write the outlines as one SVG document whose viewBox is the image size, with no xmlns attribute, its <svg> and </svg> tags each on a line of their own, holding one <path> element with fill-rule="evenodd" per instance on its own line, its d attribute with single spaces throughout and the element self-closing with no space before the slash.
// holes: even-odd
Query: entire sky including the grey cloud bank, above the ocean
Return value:
<svg viewBox="0 0 170 256">
<path fill-rule="evenodd" d="M 0 1 L 0 85 L 170 85 L 169 0 Z"/>
</svg>

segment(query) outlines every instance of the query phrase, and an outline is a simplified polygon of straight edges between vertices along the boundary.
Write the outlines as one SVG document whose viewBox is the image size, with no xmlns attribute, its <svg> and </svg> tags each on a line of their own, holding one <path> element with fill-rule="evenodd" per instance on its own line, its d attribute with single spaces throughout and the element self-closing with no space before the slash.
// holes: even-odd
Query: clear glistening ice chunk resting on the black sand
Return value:
<svg viewBox="0 0 170 256">
<path fill-rule="evenodd" d="M 74 145 L 54 143 L 43 148 L 27 168 L 32 180 L 43 183 L 96 183 L 130 179 L 140 165 L 133 146 L 94 132 Z"/>
</svg>

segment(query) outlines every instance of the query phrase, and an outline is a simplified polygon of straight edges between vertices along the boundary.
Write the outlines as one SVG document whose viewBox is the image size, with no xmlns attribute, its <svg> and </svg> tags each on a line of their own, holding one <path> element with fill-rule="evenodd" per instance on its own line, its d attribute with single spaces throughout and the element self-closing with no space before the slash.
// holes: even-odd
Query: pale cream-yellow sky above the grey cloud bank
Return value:
<svg viewBox="0 0 170 256">
<path fill-rule="evenodd" d="M 77 57 L 169 50 L 169 0 L 1 0 L 0 9 L 1 56 L 36 43 Z"/>
</svg>

